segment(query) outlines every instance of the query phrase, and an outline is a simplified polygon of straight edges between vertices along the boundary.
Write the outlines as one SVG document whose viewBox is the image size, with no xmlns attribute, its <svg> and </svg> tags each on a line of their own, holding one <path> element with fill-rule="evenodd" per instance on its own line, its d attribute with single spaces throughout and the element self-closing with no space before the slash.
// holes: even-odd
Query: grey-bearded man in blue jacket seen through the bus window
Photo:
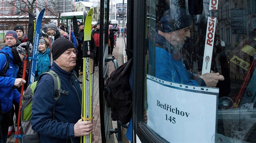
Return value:
<svg viewBox="0 0 256 143">
<path fill-rule="evenodd" d="M 191 36 L 191 26 L 191 15 L 182 8 L 163 14 L 156 33 L 155 76 L 169 82 L 215 87 L 224 80 L 219 73 L 206 73 L 191 80 L 184 67 L 182 48 Z"/>
</svg>

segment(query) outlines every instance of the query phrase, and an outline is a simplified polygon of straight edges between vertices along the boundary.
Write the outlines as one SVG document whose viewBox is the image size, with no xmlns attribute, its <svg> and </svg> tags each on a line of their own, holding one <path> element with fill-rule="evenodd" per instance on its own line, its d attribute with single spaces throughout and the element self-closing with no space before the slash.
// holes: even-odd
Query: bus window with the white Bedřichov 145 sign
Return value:
<svg viewBox="0 0 256 143">
<path fill-rule="evenodd" d="M 142 121 L 156 138 L 256 141 L 252 4 L 254 0 L 146 2 Z"/>
</svg>

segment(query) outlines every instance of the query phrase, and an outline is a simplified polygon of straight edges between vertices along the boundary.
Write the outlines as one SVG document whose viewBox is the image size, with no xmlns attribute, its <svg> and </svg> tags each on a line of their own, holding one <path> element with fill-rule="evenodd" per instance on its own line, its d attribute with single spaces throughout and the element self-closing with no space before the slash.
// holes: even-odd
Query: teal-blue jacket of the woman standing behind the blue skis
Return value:
<svg viewBox="0 0 256 143">
<path fill-rule="evenodd" d="M 50 69 L 51 60 L 50 60 L 49 54 L 50 54 L 49 48 L 47 48 L 47 50 L 44 53 L 38 52 L 36 80 L 38 80 L 39 76 L 43 74 L 43 72 L 48 71 Z"/>
</svg>

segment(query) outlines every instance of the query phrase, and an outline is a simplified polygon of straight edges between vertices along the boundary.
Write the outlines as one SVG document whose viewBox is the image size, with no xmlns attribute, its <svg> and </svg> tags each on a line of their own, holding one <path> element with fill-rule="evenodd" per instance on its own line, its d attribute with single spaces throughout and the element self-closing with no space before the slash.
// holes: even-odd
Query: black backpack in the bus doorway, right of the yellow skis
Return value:
<svg viewBox="0 0 256 143">
<path fill-rule="evenodd" d="M 106 79 L 104 96 L 111 107 L 113 121 L 120 120 L 127 124 L 132 117 L 132 90 L 129 78 L 132 70 L 132 59 L 117 67 Z"/>
</svg>

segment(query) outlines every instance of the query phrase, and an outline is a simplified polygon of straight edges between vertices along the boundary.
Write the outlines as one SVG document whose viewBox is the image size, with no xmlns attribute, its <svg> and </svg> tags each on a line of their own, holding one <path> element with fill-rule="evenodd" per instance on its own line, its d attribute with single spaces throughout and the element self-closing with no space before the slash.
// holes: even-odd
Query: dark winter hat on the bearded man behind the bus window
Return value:
<svg viewBox="0 0 256 143">
<path fill-rule="evenodd" d="M 192 25 L 191 15 L 185 9 L 178 11 L 167 10 L 159 22 L 159 30 L 162 32 L 174 32 Z"/>
</svg>

